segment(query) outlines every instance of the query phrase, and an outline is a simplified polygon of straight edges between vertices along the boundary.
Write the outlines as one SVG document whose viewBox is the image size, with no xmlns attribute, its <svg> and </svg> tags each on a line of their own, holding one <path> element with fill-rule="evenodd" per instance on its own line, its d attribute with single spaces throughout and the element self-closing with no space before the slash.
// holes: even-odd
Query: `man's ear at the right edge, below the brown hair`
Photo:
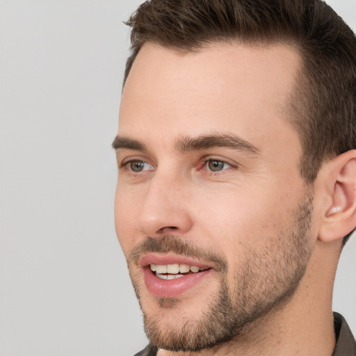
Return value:
<svg viewBox="0 0 356 356">
<path fill-rule="evenodd" d="M 327 161 L 320 172 L 327 195 L 318 238 L 335 241 L 356 226 L 356 150 Z"/>
</svg>

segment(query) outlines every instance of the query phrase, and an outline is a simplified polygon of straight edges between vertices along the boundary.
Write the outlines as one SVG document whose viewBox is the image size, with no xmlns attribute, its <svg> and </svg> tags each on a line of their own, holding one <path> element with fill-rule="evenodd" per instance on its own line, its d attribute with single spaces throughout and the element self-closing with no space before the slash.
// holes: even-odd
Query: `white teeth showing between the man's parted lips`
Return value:
<svg viewBox="0 0 356 356">
<path fill-rule="evenodd" d="M 203 270 L 209 270 L 211 268 L 203 268 L 198 266 L 191 266 L 188 264 L 150 264 L 149 268 L 161 280 L 175 280 L 176 278 L 184 277 L 185 275 L 191 275 L 200 273 Z"/>
</svg>

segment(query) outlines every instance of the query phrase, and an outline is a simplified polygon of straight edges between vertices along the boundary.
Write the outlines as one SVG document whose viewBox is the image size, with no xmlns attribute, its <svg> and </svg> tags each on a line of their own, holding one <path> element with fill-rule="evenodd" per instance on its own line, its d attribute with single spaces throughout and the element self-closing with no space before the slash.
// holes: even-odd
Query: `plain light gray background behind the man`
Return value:
<svg viewBox="0 0 356 356">
<path fill-rule="evenodd" d="M 133 355 L 111 141 L 138 0 L 0 2 L 0 355 Z M 329 1 L 356 29 L 356 1 Z M 334 309 L 356 332 L 356 238 Z"/>
</svg>

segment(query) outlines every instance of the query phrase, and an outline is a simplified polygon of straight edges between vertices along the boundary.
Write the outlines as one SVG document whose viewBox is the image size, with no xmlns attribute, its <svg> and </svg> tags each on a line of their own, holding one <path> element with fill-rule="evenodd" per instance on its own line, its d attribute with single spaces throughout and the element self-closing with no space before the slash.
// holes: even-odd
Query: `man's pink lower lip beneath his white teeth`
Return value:
<svg viewBox="0 0 356 356">
<path fill-rule="evenodd" d="M 162 280 L 156 277 L 152 270 L 147 267 L 144 269 L 144 278 L 149 293 L 160 298 L 177 298 L 193 289 L 211 272 L 211 269 L 202 270 L 198 273 L 183 275 L 183 277 L 175 278 L 174 280 Z"/>
</svg>

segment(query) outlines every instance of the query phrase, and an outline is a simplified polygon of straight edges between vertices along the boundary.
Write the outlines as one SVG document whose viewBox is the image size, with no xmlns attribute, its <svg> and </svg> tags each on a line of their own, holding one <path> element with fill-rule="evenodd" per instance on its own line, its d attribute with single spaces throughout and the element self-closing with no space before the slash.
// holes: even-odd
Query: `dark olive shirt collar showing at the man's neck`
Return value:
<svg viewBox="0 0 356 356">
<path fill-rule="evenodd" d="M 332 356 L 356 356 L 356 342 L 346 320 L 339 313 L 334 313 L 334 330 L 337 345 Z M 148 345 L 135 356 L 156 356 L 157 348 Z"/>
</svg>

